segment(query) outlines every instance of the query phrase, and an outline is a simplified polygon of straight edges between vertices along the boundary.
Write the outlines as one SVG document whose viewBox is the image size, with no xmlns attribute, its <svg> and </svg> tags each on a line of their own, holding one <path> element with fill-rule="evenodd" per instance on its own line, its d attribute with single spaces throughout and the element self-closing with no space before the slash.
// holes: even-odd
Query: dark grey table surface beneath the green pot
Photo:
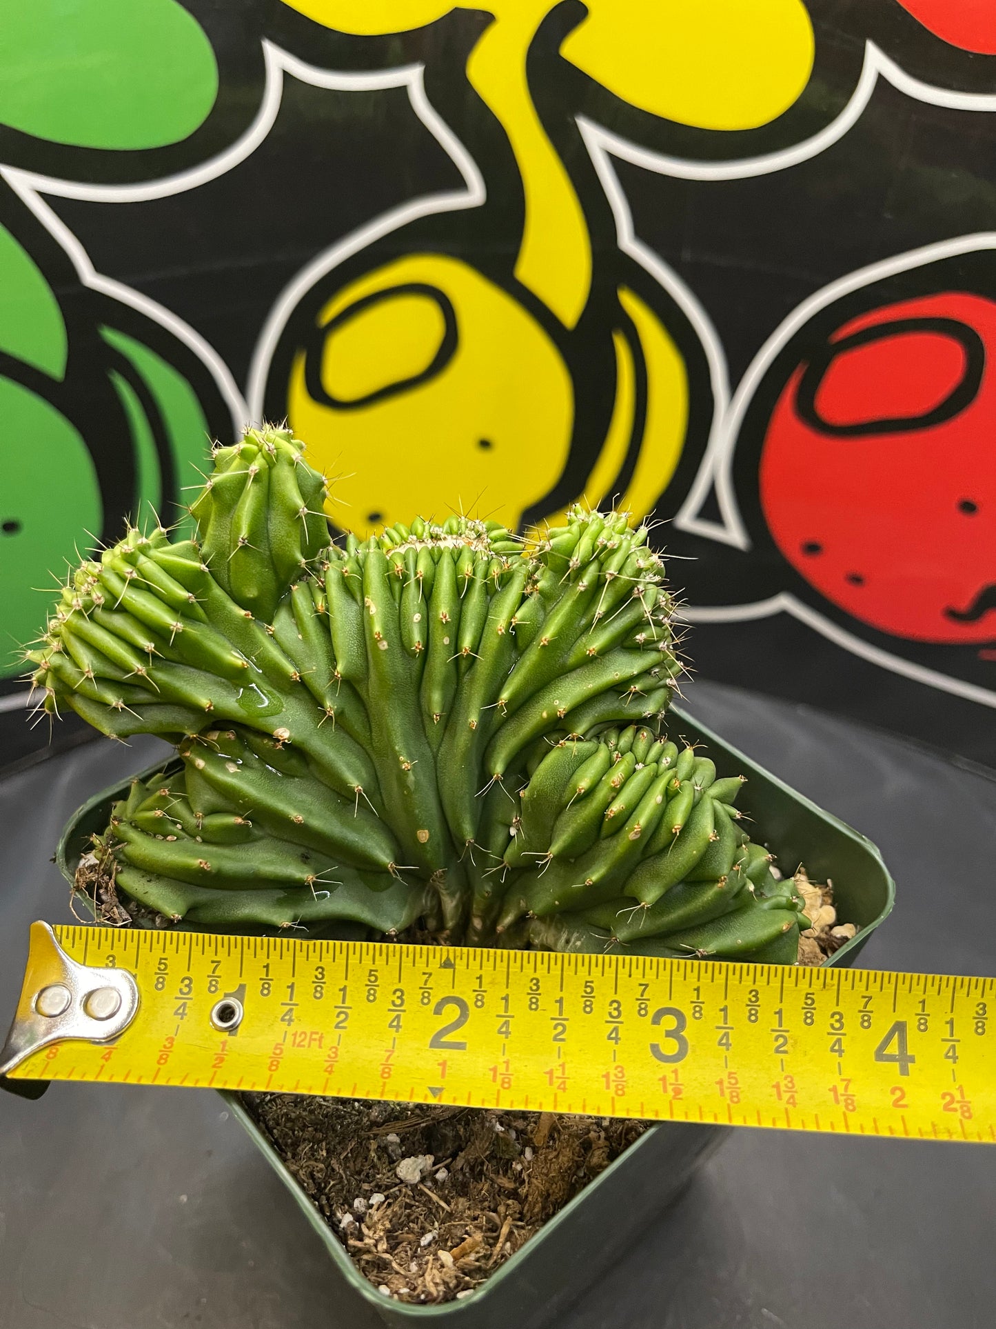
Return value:
<svg viewBox="0 0 996 1329">
<path fill-rule="evenodd" d="M 898 882 L 866 968 L 993 974 L 996 783 L 817 711 L 697 683 L 689 707 L 878 843 Z M 49 861 L 90 793 L 162 746 L 97 742 L 0 781 L 0 1022 Z M 740 1130 L 560 1322 L 972 1329 L 996 1313 L 996 1148 Z M 207 1090 L 0 1094 L 3 1329 L 355 1329 L 317 1237 Z"/>
</svg>

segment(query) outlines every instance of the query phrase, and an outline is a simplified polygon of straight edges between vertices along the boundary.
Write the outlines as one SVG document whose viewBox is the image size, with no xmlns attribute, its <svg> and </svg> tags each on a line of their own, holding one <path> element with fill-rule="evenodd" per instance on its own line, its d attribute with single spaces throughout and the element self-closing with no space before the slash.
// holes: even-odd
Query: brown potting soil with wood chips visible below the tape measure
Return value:
<svg viewBox="0 0 996 1329">
<path fill-rule="evenodd" d="M 651 1126 L 297 1094 L 243 1102 L 360 1273 L 422 1305 L 471 1293 Z M 398 1164 L 421 1176 L 398 1180 Z"/>
</svg>

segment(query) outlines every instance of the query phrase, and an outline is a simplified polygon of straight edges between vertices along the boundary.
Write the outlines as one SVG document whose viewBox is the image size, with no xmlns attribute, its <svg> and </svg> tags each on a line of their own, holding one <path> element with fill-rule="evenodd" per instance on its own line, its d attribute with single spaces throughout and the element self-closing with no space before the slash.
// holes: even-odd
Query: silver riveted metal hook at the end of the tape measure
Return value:
<svg viewBox="0 0 996 1329">
<path fill-rule="evenodd" d="M 112 1042 L 135 1018 L 138 1001 L 138 983 L 127 970 L 81 965 L 46 922 L 33 922 L 21 997 L 0 1049 L 0 1075 L 66 1038 Z"/>
</svg>

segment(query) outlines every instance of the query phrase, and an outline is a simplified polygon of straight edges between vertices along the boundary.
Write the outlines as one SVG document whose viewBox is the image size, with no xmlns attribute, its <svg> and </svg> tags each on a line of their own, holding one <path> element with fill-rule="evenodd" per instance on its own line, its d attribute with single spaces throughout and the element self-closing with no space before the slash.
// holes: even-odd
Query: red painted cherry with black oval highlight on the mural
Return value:
<svg viewBox="0 0 996 1329">
<path fill-rule="evenodd" d="M 851 319 L 799 365 L 760 465 L 768 528 L 834 605 L 920 642 L 996 641 L 996 303 Z"/>
</svg>

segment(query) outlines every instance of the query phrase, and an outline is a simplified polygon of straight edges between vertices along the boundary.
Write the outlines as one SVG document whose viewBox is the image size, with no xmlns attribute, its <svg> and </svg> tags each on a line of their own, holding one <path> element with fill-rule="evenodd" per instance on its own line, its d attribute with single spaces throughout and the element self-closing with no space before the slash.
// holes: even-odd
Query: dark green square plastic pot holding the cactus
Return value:
<svg viewBox="0 0 996 1329">
<path fill-rule="evenodd" d="M 858 934 L 827 965 L 850 968 L 862 946 L 890 913 L 895 884 L 870 840 L 823 812 L 809 799 L 744 756 L 685 711 L 672 707 L 671 730 L 703 747 L 718 773 L 749 777 L 737 805 L 764 829 L 765 844 L 785 868 L 805 863 L 811 880 L 834 882 L 838 917 L 858 925 Z M 163 769 L 157 763 L 147 779 Z M 72 881 L 94 832 L 110 819 L 110 805 L 125 796 L 130 780 L 96 795 L 66 824 L 56 861 Z M 563 1314 L 624 1249 L 671 1204 L 696 1167 L 722 1142 L 730 1127 L 663 1122 L 653 1126 L 543 1228 L 479 1289 L 441 1306 L 405 1305 L 385 1297 L 353 1267 L 339 1239 L 287 1171 L 270 1139 L 236 1094 L 223 1092 L 232 1115 L 297 1201 L 329 1259 L 353 1292 L 371 1302 L 390 1325 L 438 1322 L 452 1329 L 540 1329 Z M 339 1312 L 341 1314 L 341 1312 Z"/>
</svg>

